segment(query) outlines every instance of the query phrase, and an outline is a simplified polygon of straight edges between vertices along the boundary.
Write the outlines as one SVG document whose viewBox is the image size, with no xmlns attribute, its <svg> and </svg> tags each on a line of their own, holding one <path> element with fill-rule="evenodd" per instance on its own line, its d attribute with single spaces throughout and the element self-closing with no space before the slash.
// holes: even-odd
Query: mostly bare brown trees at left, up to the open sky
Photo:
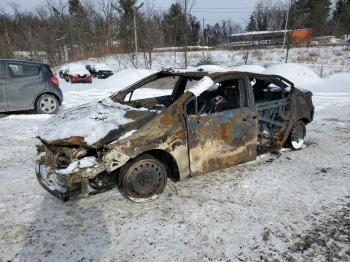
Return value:
<svg viewBox="0 0 350 262">
<path fill-rule="evenodd" d="M 188 0 L 191 2 L 191 0 Z M 46 53 L 52 64 L 68 60 L 134 52 L 135 27 L 140 52 L 157 47 L 216 45 L 242 31 L 231 20 L 206 25 L 184 9 L 179 0 L 168 10 L 151 4 L 137 9 L 137 0 L 47 1 L 33 11 L 11 11 L 0 7 L 0 57 L 12 58 L 16 51 Z"/>
</svg>

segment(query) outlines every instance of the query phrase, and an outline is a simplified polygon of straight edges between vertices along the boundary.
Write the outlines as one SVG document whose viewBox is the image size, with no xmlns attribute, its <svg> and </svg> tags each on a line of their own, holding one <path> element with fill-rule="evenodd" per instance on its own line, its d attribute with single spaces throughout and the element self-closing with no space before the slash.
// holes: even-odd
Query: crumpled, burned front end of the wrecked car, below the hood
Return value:
<svg viewBox="0 0 350 262">
<path fill-rule="evenodd" d="M 83 197 L 95 193 L 98 175 L 106 171 L 101 155 L 83 147 L 38 146 L 36 177 L 42 187 L 57 198 L 67 201 L 70 196 Z M 91 181 L 97 183 L 91 186 Z"/>
</svg>

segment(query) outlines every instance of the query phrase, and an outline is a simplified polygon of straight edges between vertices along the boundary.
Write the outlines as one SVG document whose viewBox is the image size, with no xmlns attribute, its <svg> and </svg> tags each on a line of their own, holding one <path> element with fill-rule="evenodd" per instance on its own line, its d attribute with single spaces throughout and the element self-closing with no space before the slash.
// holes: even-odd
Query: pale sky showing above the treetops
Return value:
<svg viewBox="0 0 350 262">
<path fill-rule="evenodd" d="M 91 1 L 94 2 L 93 0 Z M 158 10 L 167 10 L 171 3 L 175 2 L 174 0 L 148 1 L 153 2 L 154 7 Z M 193 7 L 191 14 L 195 15 L 201 21 L 205 18 L 205 23 L 213 24 L 223 19 L 232 19 L 235 22 L 245 25 L 257 1 L 258 0 L 196 0 L 196 5 Z M 17 3 L 22 10 L 30 10 L 45 1 L 0 0 L 0 7 L 5 8 L 7 3 L 10 2 Z"/>
</svg>

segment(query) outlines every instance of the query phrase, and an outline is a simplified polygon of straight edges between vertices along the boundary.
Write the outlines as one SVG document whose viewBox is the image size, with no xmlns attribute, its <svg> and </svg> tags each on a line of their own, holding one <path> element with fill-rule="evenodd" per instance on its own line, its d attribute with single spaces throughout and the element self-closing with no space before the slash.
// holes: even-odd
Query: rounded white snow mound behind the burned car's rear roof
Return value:
<svg viewBox="0 0 350 262">
<path fill-rule="evenodd" d="M 262 73 L 283 76 L 293 82 L 296 87 L 321 83 L 321 78 L 310 68 L 293 63 L 273 65 Z"/>
</svg>

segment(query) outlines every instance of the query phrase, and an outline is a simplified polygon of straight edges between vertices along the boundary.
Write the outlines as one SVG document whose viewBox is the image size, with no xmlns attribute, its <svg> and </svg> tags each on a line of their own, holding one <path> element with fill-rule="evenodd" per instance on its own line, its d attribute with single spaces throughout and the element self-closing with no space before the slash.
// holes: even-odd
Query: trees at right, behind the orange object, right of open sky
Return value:
<svg viewBox="0 0 350 262">
<path fill-rule="evenodd" d="M 314 36 L 350 34 L 350 0 L 261 0 L 250 16 L 247 31 L 312 28 Z"/>
</svg>

